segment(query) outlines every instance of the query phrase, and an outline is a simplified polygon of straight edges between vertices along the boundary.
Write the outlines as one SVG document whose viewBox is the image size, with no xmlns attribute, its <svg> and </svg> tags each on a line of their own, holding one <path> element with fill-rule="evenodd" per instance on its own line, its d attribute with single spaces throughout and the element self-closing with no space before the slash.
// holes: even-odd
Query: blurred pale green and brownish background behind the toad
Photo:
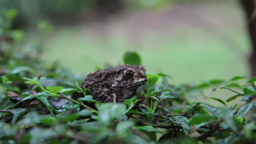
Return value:
<svg viewBox="0 0 256 144">
<path fill-rule="evenodd" d="M 148 74 L 164 72 L 172 83 L 250 76 L 250 43 L 235 0 L 1 0 L 16 8 L 13 28 L 27 41 L 41 39 L 38 20 L 53 24 L 44 39 L 43 60 L 73 73 L 122 64 L 137 51 Z"/>
</svg>

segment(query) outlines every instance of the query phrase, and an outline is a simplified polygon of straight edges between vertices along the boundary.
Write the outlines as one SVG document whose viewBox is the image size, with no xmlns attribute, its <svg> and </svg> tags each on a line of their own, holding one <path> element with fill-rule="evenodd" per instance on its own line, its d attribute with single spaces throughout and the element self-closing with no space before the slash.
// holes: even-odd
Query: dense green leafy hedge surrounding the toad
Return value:
<svg viewBox="0 0 256 144">
<path fill-rule="evenodd" d="M 90 91 L 80 92 L 84 77 L 75 77 L 58 64 L 40 59 L 43 40 L 26 43 L 25 34 L 10 29 L 15 11 L 6 11 L 0 25 L 0 143 L 245 143 L 256 139 L 256 77 L 241 86 L 235 76 L 198 85 L 173 85 L 164 73 L 147 75 L 140 93 L 124 103 L 99 103 Z M 51 32 L 45 21 L 38 24 L 42 35 Z M 136 52 L 127 52 L 124 63 L 141 64 Z M 147 67 L 147 66 L 146 66 Z M 99 67 L 97 67 L 99 69 Z M 252 85 L 250 85 L 252 83 Z M 211 97 L 217 89 L 233 91 L 225 101 Z M 242 90 L 243 92 L 237 92 Z M 72 103 L 56 109 L 50 98 Z M 241 104 L 227 106 L 241 98 Z M 188 100 L 189 99 L 189 100 Z M 205 103 L 213 99 L 224 108 Z M 83 103 L 85 102 L 85 103 Z M 145 102 L 144 107 L 139 106 Z M 87 104 L 94 104 L 88 107 Z"/>
</svg>

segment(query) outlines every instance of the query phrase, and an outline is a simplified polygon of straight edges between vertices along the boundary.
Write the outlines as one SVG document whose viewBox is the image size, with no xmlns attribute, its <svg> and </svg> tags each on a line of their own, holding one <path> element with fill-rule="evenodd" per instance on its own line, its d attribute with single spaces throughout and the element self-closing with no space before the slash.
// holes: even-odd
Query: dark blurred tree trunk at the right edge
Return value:
<svg viewBox="0 0 256 144">
<path fill-rule="evenodd" d="M 249 58 L 251 66 L 251 76 L 256 76 L 256 18 L 252 17 L 254 11 L 256 11 L 256 5 L 254 0 L 239 0 L 243 10 L 245 11 L 246 24 L 248 33 L 251 39 L 252 52 Z"/>
</svg>

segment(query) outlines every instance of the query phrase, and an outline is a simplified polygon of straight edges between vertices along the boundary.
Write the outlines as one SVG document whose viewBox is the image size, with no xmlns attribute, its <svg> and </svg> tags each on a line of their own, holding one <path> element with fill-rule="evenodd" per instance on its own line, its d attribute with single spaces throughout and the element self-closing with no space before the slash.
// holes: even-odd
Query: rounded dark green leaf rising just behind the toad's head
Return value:
<svg viewBox="0 0 256 144">
<path fill-rule="evenodd" d="M 141 64 L 141 57 L 135 51 L 127 51 L 123 56 L 123 60 L 125 64 L 133 64 L 133 65 Z"/>
</svg>

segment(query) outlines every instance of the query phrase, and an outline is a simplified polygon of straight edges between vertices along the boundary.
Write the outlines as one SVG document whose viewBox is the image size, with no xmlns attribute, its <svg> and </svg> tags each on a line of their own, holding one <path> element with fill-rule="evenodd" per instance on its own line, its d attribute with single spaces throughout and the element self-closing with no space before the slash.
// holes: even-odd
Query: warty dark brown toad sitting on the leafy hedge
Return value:
<svg viewBox="0 0 256 144">
<path fill-rule="evenodd" d="M 142 65 L 131 64 L 102 69 L 90 73 L 80 87 L 88 88 L 97 101 L 123 102 L 136 95 L 147 82 L 145 70 Z"/>
</svg>

